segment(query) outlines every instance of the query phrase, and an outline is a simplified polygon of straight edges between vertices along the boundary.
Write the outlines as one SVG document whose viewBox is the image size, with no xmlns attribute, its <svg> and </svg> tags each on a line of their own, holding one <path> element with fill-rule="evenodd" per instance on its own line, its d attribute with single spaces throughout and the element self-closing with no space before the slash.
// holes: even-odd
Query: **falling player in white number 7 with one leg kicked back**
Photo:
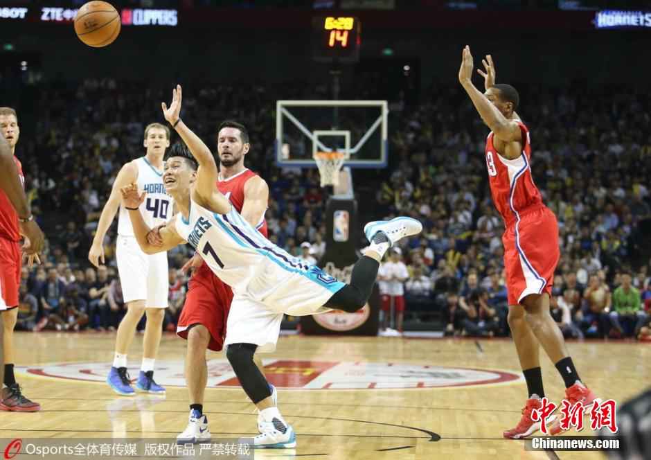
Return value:
<svg viewBox="0 0 651 460">
<path fill-rule="evenodd" d="M 360 258 L 350 285 L 337 281 L 319 267 L 301 263 L 264 238 L 215 190 L 217 165 L 213 154 L 181 119 L 181 87 L 173 91 L 172 104 L 163 114 L 185 145 L 166 154 L 163 180 L 175 198 L 179 213 L 160 231 L 163 244 L 147 240 L 150 227 L 140 206 L 145 193 L 136 184 L 122 189 L 139 245 L 148 254 L 190 242 L 208 267 L 233 289 L 226 328 L 226 357 L 242 388 L 260 410 L 261 434 L 256 447 L 293 448 L 296 436 L 280 415 L 271 388 L 253 362 L 253 353 L 273 351 L 283 314 L 313 315 L 337 308 L 355 312 L 362 308 L 375 284 L 380 260 L 393 243 L 420 233 L 422 225 L 411 218 L 369 222 L 364 229 L 371 246 Z M 198 165 L 197 165 L 198 162 Z M 197 167 L 198 166 L 198 167 Z"/>
</svg>

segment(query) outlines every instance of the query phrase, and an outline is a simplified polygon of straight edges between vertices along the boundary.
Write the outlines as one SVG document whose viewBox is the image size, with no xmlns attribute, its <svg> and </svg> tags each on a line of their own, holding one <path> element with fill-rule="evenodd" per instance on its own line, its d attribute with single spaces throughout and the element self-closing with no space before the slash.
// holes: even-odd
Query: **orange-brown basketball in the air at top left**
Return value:
<svg viewBox="0 0 651 460">
<path fill-rule="evenodd" d="M 75 33 L 82 42 L 96 48 L 112 44 L 121 26 L 120 13 L 105 1 L 89 1 L 75 16 Z"/>
</svg>

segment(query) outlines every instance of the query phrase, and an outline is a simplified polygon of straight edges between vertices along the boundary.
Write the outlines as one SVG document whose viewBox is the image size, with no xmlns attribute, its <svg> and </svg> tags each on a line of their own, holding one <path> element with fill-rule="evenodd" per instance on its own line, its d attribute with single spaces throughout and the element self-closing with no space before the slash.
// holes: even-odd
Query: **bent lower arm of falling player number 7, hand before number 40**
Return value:
<svg viewBox="0 0 651 460">
<path fill-rule="evenodd" d="M 147 240 L 147 234 L 151 229 L 145 223 L 145 219 L 143 219 L 143 215 L 140 211 L 140 205 L 145 201 L 145 195 L 147 194 L 145 192 L 139 194 L 138 186 L 136 184 L 130 184 L 121 188 L 120 193 L 122 202 L 125 205 L 125 208 L 129 211 L 129 218 L 134 227 L 134 236 L 138 241 L 138 245 L 145 254 L 156 254 L 157 252 L 169 251 L 172 247 L 185 242 L 185 240 L 175 231 L 174 225 L 168 224 L 165 227 L 162 227 L 159 232 L 162 244 L 150 244 Z"/>
</svg>

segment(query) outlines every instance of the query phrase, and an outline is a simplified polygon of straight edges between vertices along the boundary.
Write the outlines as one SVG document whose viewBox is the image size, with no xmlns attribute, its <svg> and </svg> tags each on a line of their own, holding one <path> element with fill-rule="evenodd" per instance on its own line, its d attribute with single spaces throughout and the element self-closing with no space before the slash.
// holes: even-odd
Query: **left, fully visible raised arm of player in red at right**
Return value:
<svg viewBox="0 0 651 460">
<path fill-rule="evenodd" d="M 522 139 L 520 127 L 513 120 L 508 120 L 497 107 L 490 103 L 490 100 L 484 96 L 479 89 L 472 84 L 472 54 L 470 46 L 465 46 L 461 52 L 461 67 L 459 68 L 459 82 L 472 100 L 474 107 L 479 112 L 484 123 L 490 127 L 498 139 L 504 142 L 519 141 Z"/>
</svg>

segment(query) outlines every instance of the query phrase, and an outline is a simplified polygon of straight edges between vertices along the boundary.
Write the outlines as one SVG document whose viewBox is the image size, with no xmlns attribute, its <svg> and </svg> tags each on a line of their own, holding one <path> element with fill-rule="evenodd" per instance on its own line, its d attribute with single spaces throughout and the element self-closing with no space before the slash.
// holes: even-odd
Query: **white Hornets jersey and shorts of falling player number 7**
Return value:
<svg viewBox="0 0 651 460">
<path fill-rule="evenodd" d="M 274 351 L 283 314 L 330 311 L 323 304 L 345 286 L 274 245 L 233 206 L 217 214 L 190 199 L 188 220 L 177 214 L 175 228 L 233 289 L 224 345 L 248 343 Z"/>
</svg>

